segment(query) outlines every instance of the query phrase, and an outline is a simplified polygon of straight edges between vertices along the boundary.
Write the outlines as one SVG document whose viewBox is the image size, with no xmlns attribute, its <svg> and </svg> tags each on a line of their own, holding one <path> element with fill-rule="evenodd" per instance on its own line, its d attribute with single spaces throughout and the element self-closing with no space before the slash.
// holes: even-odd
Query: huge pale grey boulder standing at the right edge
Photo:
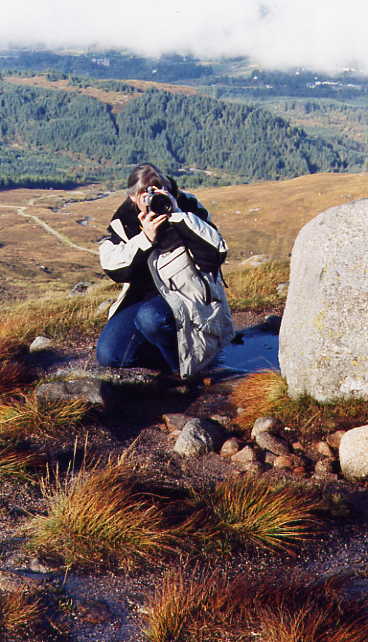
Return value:
<svg viewBox="0 0 368 642">
<path fill-rule="evenodd" d="M 293 248 L 279 361 L 289 394 L 368 398 L 368 200 L 307 223 Z"/>
</svg>

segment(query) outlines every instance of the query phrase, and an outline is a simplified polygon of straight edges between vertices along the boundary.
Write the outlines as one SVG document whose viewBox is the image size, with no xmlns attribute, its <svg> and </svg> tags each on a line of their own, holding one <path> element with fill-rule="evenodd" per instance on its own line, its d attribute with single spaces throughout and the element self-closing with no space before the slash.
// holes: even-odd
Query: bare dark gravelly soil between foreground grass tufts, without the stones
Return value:
<svg viewBox="0 0 368 642">
<path fill-rule="evenodd" d="M 263 321 L 265 312 L 236 315 L 238 328 Z M 80 343 L 71 354 L 67 350 L 54 355 L 39 370 L 57 367 L 90 367 L 94 356 L 88 343 Z M 181 412 L 188 416 L 232 417 L 234 408 L 228 401 L 231 382 L 202 386 L 183 394 L 179 389 L 151 394 L 145 391 L 121 399 L 113 413 L 99 410 L 89 426 L 89 443 L 95 456 L 107 459 L 117 457 L 130 446 L 132 457 L 157 481 L 177 485 L 201 487 L 215 484 L 234 475 L 234 467 L 218 454 L 211 453 L 195 459 L 182 459 L 172 450 L 173 440 L 162 430 L 162 414 Z M 116 410 L 118 409 L 118 414 Z M 59 438 L 47 445 L 47 455 L 54 465 L 61 466 L 71 456 L 70 439 Z M 292 474 L 264 473 L 272 480 L 292 480 Z M 318 488 L 324 497 L 340 493 L 347 506 L 346 515 L 332 518 L 323 515 L 323 528 L 309 542 L 298 547 L 295 556 L 249 549 L 232 555 L 221 554 L 210 560 L 212 567 L 226 570 L 234 576 L 245 572 L 249 578 L 276 573 L 314 578 L 337 574 L 351 576 L 351 595 L 367 593 L 368 567 L 368 484 L 352 485 L 341 478 L 333 481 L 305 480 L 299 482 Z M 45 584 L 48 589 L 62 590 L 62 613 L 55 615 L 57 626 L 65 628 L 71 641 L 85 642 L 146 642 L 142 633 L 143 605 L 147 595 L 161 581 L 167 563 L 139 568 L 131 576 L 116 572 L 69 572 L 66 577 L 57 569 L 39 563 L 35 556 L 24 550 L 22 527 L 29 515 L 45 509 L 39 487 L 35 483 L 2 482 L 0 488 L 0 588 L 2 573 L 13 573 L 24 581 Z M 42 562 L 42 560 L 41 560 Z M 177 562 L 171 562 L 177 564 Z M 44 561 L 43 561 L 44 564 Z M 48 573 L 47 571 L 50 571 Z M 3 578 L 3 579 L 2 579 Z M 55 590 L 55 589 L 54 589 Z M 15 642 L 31 638 L 14 638 Z M 39 634 L 35 642 L 53 638 Z M 55 637 L 57 639 L 57 637 Z"/>
</svg>

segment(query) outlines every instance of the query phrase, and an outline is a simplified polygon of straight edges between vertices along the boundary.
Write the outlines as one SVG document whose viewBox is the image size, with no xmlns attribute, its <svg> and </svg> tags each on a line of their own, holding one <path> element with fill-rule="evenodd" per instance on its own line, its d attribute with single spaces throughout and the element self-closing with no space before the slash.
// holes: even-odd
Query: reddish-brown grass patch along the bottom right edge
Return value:
<svg viewBox="0 0 368 642">
<path fill-rule="evenodd" d="M 169 571 L 148 602 L 145 633 L 151 642 L 363 642 L 366 602 L 344 601 L 343 590 L 340 580 Z"/>
</svg>

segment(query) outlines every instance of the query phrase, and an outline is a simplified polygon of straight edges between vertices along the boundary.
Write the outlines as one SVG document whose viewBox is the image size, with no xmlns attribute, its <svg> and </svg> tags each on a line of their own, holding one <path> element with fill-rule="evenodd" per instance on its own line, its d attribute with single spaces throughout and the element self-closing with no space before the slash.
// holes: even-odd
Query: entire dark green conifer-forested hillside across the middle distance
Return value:
<svg viewBox="0 0 368 642">
<path fill-rule="evenodd" d="M 77 92 L 2 82 L 0 185 L 124 180 L 151 159 L 181 183 L 278 179 L 362 165 L 363 149 L 308 136 L 254 105 L 149 90 L 120 113 Z M 135 97 L 136 96 L 136 97 Z"/>
</svg>

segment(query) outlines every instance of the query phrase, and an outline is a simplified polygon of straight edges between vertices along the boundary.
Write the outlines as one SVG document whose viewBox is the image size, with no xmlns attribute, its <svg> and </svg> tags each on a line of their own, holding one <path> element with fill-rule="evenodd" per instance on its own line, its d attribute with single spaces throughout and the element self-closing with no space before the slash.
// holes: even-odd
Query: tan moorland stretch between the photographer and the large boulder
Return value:
<svg viewBox="0 0 368 642">
<path fill-rule="evenodd" d="M 367 175 L 309 174 L 196 190 L 229 248 L 229 269 L 252 254 L 287 260 L 299 230 L 329 207 L 367 198 Z"/>
</svg>

